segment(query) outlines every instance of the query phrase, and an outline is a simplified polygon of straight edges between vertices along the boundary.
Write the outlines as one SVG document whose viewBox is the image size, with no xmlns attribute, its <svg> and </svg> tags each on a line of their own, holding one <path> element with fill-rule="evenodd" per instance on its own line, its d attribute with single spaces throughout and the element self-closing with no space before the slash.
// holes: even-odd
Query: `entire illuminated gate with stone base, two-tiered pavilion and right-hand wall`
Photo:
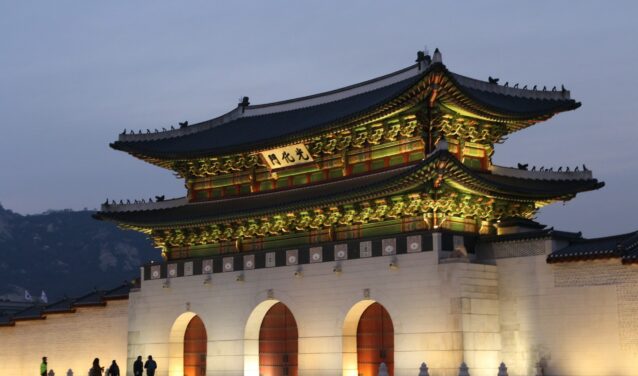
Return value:
<svg viewBox="0 0 638 376">
<path fill-rule="evenodd" d="M 381 363 L 416 376 L 422 362 L 432 376 L 462 362 L 473 376 L 501 362 L 509 375 L 638 374 L 638 234 L 584 239 L 533 220 L 603 183 L 584 166 L 492 163 L 510 133 L 579 106 L 564 88 L 453 73 L 437 50 L 342 89 L 125 131 L 111 147 L 186 193 L 96 214 L 164 258 L 142 268 L 126 328 L 110 329 L 125 331 L 121 363 L 131 375 L 152 354 L 161 376 L 376 376 Z"/>
</svg>

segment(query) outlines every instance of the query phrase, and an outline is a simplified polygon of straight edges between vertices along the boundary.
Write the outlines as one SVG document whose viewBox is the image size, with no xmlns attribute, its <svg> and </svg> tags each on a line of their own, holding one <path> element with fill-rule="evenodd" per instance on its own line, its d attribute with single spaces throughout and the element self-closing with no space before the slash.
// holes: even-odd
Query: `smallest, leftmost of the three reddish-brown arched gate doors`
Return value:
<svg viewBox="0 0 638 376">
<path fill-rule="evenodd" d="M 202 319 L 193 317 L 184 334 L 184 376 L 206 376 L 207 338 Z"/>
</svg>

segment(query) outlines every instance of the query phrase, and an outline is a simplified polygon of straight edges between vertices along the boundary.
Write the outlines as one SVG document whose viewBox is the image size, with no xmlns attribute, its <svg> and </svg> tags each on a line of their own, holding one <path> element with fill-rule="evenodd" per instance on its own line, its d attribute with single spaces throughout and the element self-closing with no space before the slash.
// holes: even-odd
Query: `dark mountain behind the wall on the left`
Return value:
<svg viewBox="0 0 638 376">
<path fill-rule="evenodd" d="M 0 205 L 0 299 L 49 302 L 139 277 L 139 266 L 161 259 L 143 234 L 91 218 L 93 211 L 20 215 Z"/>
</svg>

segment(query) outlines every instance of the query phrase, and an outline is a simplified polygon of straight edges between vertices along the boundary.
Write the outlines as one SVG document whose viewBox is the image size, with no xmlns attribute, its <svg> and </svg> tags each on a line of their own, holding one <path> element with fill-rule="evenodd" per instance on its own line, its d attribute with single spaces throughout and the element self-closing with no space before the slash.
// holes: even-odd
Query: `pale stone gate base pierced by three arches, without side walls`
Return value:
<svg viewBox="0 0 638 376">
<path fill-rule="evenodd" d="M 145 280 L 130 295 L 129 364 L 137 355 L 152 354 L 158 376 L 181 375 L 183 318 L 197 314 L 209 341 L 207 375 L 258 375 L 254 328 L 264 304 L 281 301 L 298 326 L 299 374 L 356 376 L 351 335 L 356 312 L 377 301 L 394 325 L 395 375 L 414 376 L 426 361 L 432 375 L 456 376 L 465 357 L 471 357 L 472 375 L 496 374 L 494 266 L 439 264 L 434 251 L 345 260 L 341 273 L 334 272 L 335 265 L 215 273 L 210 283 L 204 275 L 186 276 L 172 278 L 170 287 L 164 280 Z M 294 275 L 298 270 L 300 277 Z M 243 281 L 237 281 L 240 275 Z"/>
</svg>

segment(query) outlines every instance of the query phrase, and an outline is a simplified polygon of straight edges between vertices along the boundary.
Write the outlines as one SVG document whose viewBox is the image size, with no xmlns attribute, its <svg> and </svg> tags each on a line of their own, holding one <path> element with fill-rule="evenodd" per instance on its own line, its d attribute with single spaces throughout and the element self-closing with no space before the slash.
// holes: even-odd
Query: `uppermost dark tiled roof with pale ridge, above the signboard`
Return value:
<svg viewBox="0 0 638 376">
<path fill-rule="evenodd" d="M 443 75 L 448 101 L 487 117 L 547 118 L 580 104 L 566 90 L 538 91 L 505 87 L 449 72 L 440 62 L 413 65 L 360 84 L 326 93 L 263 105 L 240 105 L 218 118 L 185 128 L 122 133 L 111 147 L 156 159 L 219 156 L 263 149 L 292 138 L 318 134 L 361 116 L 405 102 L 429 75 Z M 423 85 L 422 85 L 423 86 Z M 422 90 L 422 89 L 421 89 Z M 408 93 L 412 93 L 408 95 Z M 404 99 L 400 99 L 404 98 Z"/>
</svg>

